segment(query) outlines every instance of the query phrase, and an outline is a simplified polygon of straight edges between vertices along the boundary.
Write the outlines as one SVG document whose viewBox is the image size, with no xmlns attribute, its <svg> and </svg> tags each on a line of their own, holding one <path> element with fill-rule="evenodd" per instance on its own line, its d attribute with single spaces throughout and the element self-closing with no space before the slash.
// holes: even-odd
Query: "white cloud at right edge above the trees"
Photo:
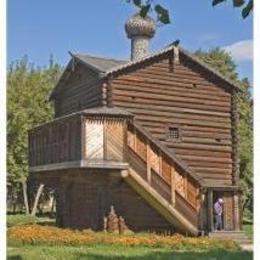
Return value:
<svg viewBox="0 0 260 260">
<path fill-rule="evenodd" d="M 235 42 L 229 46 L 223 47 L 225 51 L 230 53 L 236 61 L 252 61 L 253 60 L 253 40 L 244 40 Z"/>
</svg>

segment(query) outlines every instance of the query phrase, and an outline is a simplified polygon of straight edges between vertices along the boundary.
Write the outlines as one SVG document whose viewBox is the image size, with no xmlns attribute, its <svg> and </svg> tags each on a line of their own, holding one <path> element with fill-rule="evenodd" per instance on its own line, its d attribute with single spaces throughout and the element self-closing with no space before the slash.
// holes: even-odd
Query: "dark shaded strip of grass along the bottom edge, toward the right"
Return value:
<svg viewBox="0 0 260 260">
<path fill-rule="evenodd" d="M 122 256 L 93 254 L 93 253 L 79 253 L 75 255 L 75 259 L 91 259 L 91 260 L 252 260 L 252 252 L 229 252 L 224 250 L 215 250 L 210 252 L 152 252 L 142 256 Z"/>
</svg>

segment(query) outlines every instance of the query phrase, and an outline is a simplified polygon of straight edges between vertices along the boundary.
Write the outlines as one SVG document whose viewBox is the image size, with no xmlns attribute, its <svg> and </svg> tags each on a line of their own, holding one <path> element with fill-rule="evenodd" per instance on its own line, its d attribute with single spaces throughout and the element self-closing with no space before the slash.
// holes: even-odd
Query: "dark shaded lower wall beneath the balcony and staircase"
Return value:
<svg viewBox="0 0 260 260">
<path fill-rule="evenodd" d="M 173 227 L 120 177 L 119 172 L 64 171 L 57 190 L 59 225 L 103 229 L 110 206 L 134 231 L 173 232 Z"/>
</svg>

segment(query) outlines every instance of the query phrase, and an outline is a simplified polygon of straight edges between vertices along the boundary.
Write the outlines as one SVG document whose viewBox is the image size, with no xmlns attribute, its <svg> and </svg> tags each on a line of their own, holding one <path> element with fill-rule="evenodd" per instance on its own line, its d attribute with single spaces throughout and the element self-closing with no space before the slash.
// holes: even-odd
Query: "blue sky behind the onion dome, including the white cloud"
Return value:
<svg viewBox="0 0 260 260">
<path fill-rule="evenodd" d="M 157 2 L 169 8 L 172 23 L 157 30 L 153 51 L 176 39 L 189 51 L 226 48 L 240 76 L 252 81 L 252 16 L 243 20 L 239 9 L 229 3 L 213 8 L 211 0 Z M 8 63 L 28 55 L 45 65 L 53 54 L 64 65 L 68 51 L 128 59 L 124 23 L 134 12 L 124 0 L 8 0 Z"/>
</svg>

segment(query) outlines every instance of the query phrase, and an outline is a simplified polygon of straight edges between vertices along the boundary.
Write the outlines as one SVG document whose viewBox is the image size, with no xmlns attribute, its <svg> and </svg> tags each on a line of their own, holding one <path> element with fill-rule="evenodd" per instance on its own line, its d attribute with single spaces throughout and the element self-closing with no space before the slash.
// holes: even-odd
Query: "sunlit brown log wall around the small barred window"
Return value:
<svg viewBox="0 0 260 260">
<path fill-rule="evenodd" d="M 111 102 L 136 115 L 155 138 L 213 185 L 232 184 L 231 93 L 180 57 L 168 57 L 114 77 Z M 169 127 L 181 139 L 169 140 Z"/>
</svg>

